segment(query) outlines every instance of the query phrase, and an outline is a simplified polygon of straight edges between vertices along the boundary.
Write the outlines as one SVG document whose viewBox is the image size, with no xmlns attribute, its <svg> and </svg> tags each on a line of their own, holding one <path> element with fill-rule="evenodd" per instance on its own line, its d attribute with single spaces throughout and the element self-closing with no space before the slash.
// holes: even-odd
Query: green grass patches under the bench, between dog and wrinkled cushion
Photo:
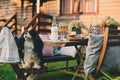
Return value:
<svg viewBox="0 0 120 80">
<path fill-rule="evenodd" d="M 59 67 L 64 67 L 64 62 L 55 62 L 55 63 L 50 63 L 48 64 L 49 69 L 54 69 L 54 68 L 59 68 Z M 75 61 L 70 61 L 69 66 L 76 66 Z M 54 71 L 54 72 L 47 72 L 43 73 L 40 77 L 39 80 L 71 80 L 75 71 L 65 71 L 65 70 L 60 70 L 60 71 Z M 83 80 L 83 74 L 77 75 L 76 80 Z"/>
</svg>

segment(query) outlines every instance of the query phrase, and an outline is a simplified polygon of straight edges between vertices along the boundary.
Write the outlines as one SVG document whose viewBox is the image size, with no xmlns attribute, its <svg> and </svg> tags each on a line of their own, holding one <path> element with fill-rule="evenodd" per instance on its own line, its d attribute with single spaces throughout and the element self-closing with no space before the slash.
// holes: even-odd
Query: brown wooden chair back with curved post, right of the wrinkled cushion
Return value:
<svg viewBox="0 0 120 80">
<path fill-rule="evenodd" d="M 117 29 L 109 29 L 106 27 L 104 32 L 104 40 L 103 40 L 103 46 L 101 49 L 100 57 L 98 60 L 97 68 L 95 71 L 95 75 L 97 75 L 100 72 L 101 66 L 103 64 L 103 61 L 105 59 L 107 47 L 110 46 L 120 46 L 120 30 Z M 111 53 L 114 54 L 114 53 Z M 94 80 L 92 77 L 91 80 Z"/>
</svg>

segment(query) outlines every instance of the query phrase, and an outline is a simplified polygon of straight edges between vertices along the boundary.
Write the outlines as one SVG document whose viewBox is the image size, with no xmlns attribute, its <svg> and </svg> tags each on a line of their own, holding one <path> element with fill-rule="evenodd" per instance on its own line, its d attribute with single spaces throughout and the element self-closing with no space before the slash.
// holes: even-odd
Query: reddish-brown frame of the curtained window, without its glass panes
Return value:
<svg viewBox="0 0 120 80">
<path fill-rule="evenodd" d="M 69 7 L 69 13 L 64 13 L 64 11 L 66 11 L 65 9 L 63 9 L 64 5 L 64 1 L 70 1 L 69 4 L 71 5 Z M 77 0 L 76 0 L 77 1 Z M 79 1 L 79 0 L 78 0 Z M 97 14 L 98 13 L 98 0 L 91 0 L 91 1 L 95 1 L 95 5 L 94 5 L 94 11 L 93 12 L 86 12 L 86 1 L 88 0 L 80 0 L 81 2 L 79 4 L 81 4 L 78 8 L 78 11 L 74 11 L 75 8 L 75 0 L 60 0 L 60 15 L 76 15 L 76 14 Z"/>
</svg>

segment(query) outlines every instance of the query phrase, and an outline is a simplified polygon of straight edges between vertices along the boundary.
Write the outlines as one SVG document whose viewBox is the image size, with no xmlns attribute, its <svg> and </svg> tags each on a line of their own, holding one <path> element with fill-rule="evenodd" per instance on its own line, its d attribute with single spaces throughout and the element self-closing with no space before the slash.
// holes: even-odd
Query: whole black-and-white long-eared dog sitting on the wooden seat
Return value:
<svg viewBox="0 0 120 80">
<path fill-rule="evenodd" d="M 21 68 L 36 68 L 40 69 L 40 56 L 42 54 L 43 42 L 38 37 L 37 32 L 31 30 L 25 32 L 19 40 L 22 50 L 22 65 Z"/>
</svg>

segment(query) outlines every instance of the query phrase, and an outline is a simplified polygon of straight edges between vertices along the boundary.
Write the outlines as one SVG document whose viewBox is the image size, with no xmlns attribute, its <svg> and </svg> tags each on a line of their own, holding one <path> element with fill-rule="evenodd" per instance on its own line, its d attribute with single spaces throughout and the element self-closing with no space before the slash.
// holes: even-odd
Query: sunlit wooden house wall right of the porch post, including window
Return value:
<svg viewBox="0 0 120 80">
<path fill-rule="evenodd" d="M 61 21 L 81 20 L 89 27 L 90 24 L 99 24 L 106 16 L 120 21 L 119 6 L 120 0 L 48 0 L 40 9 Z"/>
</svg>

